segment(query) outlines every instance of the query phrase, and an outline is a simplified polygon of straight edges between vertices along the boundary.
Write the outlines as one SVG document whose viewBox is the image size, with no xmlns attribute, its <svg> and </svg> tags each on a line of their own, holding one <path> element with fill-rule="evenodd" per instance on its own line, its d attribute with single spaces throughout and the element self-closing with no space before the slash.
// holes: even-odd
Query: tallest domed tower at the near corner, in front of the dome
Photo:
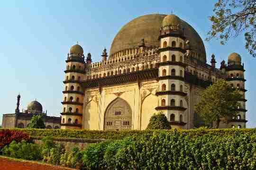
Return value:
<svg viewBox="0 0 256 170">
<path fill-rule="evenodd" d="M 188 123 L 185 101 L 187 93 L 184 92 L 184 54 L 189 53 L 189 49 L 184 49 L 185 37 L 181 19 L 175 15 L 166 16 L 159 39 L 159 91 L 156 93 L 159 103 L 155 109 L 165 114 L 172 128 L 187 128 L 184 126 Z"/>
</svg>

